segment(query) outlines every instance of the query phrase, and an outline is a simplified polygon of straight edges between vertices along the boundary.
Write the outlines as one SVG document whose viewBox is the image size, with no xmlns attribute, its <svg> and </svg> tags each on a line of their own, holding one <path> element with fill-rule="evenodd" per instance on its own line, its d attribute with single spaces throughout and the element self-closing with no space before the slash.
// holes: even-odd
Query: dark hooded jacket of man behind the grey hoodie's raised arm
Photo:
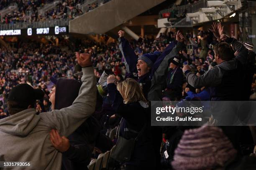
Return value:
<svg viewBox="0 0 256 170">
<path fill-rule="evenodd" d="M 81 83 L 72 79 L 59 79 L 56 83 L 54 109 L 69 107 L 79 93 Z M 62 153 L 62 170 L 79 170 L 87 167 L 91 153 L 100 135 L 100 124 L 94 117 L 89 117 L 72 133 L 68 139 L 69 149 Z"/>
</svg>

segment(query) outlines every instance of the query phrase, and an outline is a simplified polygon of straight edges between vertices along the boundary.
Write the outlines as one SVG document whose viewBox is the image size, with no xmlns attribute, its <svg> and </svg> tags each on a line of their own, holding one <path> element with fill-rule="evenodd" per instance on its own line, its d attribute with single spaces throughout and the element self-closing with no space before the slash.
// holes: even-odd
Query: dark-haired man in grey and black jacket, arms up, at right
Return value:
<svg viewBox="0 0 256 170">
<path fill-rule="evenodd" d="M 215 46 L 215 59 L 218 63 L 217 66 L 208 70 L 203 75 L 200 75 L 200 77 L 193 75 L 190 72 L 188 65 L 183 67 L 183 72 L 187 77 L 188 83 L 193 87 L 214 87 L 215 94 L 211 94 L 212 100 L 248 100 L 249 96 L 244 96 L 244 88 L 236 95 L 233 93 L 236 89 L 244 86 L 242 85 L 243 79 L 237 81 L 236 77 L 243 78 L 243 75 L 246 74 L 246 72 L 242 71 L 242 67 L 240 65 L 246 63 L 248 51 L 243 44 L 234 38 L 224 35 L 221 25 L 219 25 L 219 32 L 218 34 L 222 35 L 222 39 L 231 43 L 239 52 L 238 56 L 234 58 L 233 50 L 227 42 L 220 42 Z M 233 74 L 231 73 L 232 71 L 234 72 Z M 229 83 L 228 86 L 227 83 Z"/>
</svg>

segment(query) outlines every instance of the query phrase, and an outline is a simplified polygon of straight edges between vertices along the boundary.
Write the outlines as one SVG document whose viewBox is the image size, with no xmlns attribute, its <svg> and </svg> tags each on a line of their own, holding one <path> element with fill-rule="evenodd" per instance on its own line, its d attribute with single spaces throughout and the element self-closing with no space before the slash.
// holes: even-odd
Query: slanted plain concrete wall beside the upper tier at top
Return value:
<svg viewBox="0 0 256 170">
<path fill-rule="evenodd" d="M 111 0 L 69 22 L 69 32 L 102 34 L 165 0 Z"/>
</svg>

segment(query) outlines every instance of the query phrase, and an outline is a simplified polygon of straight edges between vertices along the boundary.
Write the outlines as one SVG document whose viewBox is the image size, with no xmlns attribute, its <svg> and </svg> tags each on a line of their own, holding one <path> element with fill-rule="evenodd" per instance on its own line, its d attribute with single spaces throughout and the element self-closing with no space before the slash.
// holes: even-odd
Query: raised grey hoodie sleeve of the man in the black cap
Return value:
<svg viewBox="0 0 256 170">
<path fill-rule="evenodd" d="M 41 120 L 47 126 L 57 129 L 64 136 L 73 133 L 95 111 L 96 80 L 93 68 L 82 68 L 82 72 L 82 86 L 73 104 L 61 110 L 52 110 L 40 114 Z"/>
</svg>

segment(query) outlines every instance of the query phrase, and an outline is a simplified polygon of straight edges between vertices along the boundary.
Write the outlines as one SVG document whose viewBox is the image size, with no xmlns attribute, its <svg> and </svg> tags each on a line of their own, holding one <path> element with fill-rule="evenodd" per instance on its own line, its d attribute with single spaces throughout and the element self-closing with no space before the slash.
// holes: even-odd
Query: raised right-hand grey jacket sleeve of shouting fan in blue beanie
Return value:
<svg viewBox="0 0 256 170">
<path fill-rule="evenodd" d="M 155 71 L 155 73 L 151 79 L 150 91 L 148 92 L 148 100 L 149 101 L 161 100 L 161 92 L 166 84 L 165 78 L 166 78 L 166 74 L 168 71 L 169 62 L 182 49 L 182 45 L 183 45 L 183 43 L 178 42 L 176 47 L 174 47 L 172 49 L 172 51 L 164 57 L 164 60 L 161 62 L 161 64 Z"/>
</svg>

